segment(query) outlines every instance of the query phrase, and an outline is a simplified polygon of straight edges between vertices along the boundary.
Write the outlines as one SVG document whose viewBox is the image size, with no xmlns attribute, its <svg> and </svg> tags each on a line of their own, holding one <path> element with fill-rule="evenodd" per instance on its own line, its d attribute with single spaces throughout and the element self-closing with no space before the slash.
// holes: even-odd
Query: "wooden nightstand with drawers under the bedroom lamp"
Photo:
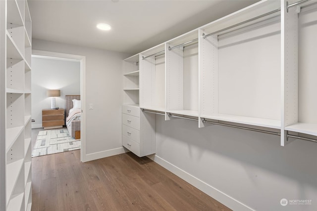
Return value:
<svg viewBox="0 0 317 211">
<path fill-rule="evenodd" d="M 63 127 L 65 123 L 65 110 L 43 109 L 42 110 L 42 127 L 44 129 Z"/>
</svg>

